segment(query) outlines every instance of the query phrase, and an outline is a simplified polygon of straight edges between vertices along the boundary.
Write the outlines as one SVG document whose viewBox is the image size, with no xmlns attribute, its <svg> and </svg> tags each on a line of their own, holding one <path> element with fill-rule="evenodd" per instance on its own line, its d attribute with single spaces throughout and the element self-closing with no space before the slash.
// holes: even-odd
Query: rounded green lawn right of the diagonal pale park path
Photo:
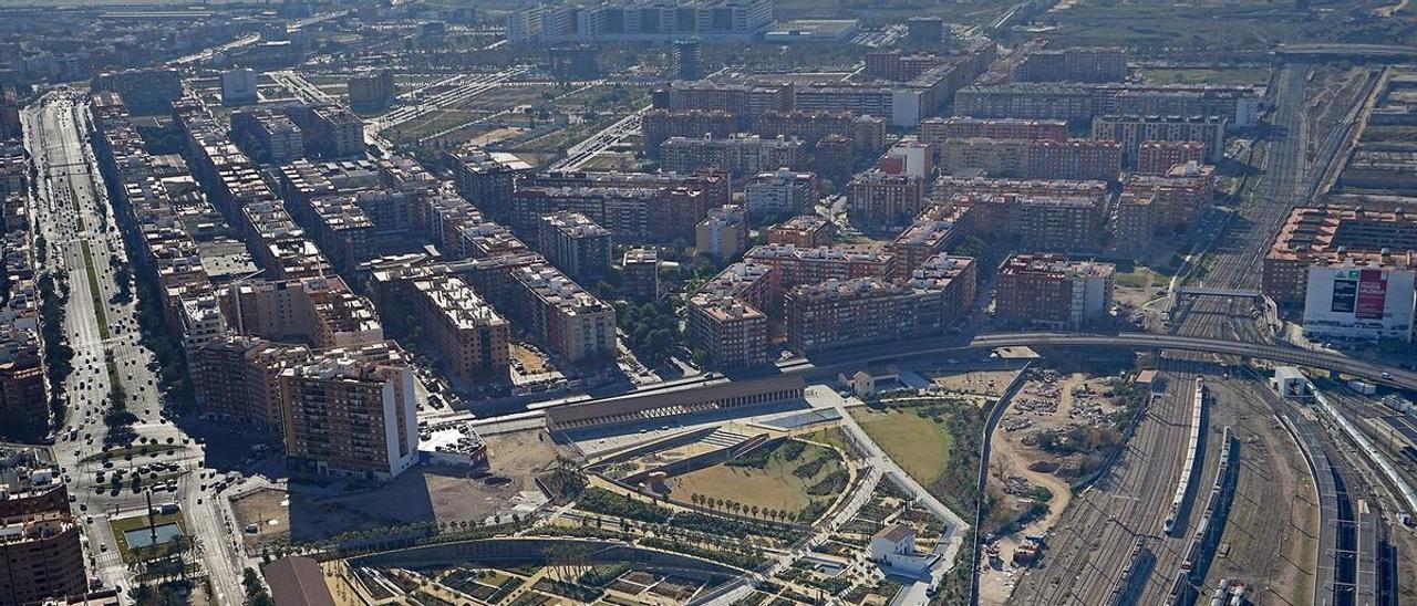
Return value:
<svg viewBox="0 0 1417 606">
<path fill-rule="evenodd" d="M 949 464 L 949 447 L 954 445 L 954 438 L 944 425 L 913 411 L 876 412 L 864 406 L 850 411 L 866 435 L 915 481 L 928 487 L 944 476 Z"/>
</svg>

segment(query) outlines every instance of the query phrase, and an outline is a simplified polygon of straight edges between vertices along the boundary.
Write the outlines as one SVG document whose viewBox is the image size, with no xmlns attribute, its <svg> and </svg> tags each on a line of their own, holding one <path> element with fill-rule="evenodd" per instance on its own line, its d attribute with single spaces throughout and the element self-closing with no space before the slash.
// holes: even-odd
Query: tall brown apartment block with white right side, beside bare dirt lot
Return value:
<svg viewBox="0 0 1417 606">
<path fill-rule="evenodd" d="M 292 471 L 388 481 L 418 462 L 414 372 L 390 343 L 324 351 L 281 372 Z"/>
</svg>

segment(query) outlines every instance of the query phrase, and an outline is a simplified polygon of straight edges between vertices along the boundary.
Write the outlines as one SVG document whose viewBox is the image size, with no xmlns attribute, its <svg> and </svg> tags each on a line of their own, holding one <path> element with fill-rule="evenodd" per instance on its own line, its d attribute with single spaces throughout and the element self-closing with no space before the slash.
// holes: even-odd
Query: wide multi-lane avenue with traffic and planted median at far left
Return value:
<svg viewBox="0 0 1417 606">
<path fill-rule="evenodd" d="M 196 479 L 203 473 L 203 446 L 163 418 L 157 362 L 142 343 L 136 303 L 113 303 L 119 293 L 118 268 L 129 259 L 88 144 L 86 103 L 50 95 L 26 112 L 24 125 L 41 180 L 35 232 L 47 248 L 48 263 L 43 269 L 61 273 L 69 292 L 64 334 L 74 348 L 74 372 L 67 379 L 65 425 L 55 432 L 54 450 L 75 497 L 74 513 L 85 522 L 91 573 L 105 586 L 133 586 L 108 521 L 140 513 L 146 503 L 146 496 L 132 491 L 128 483 L 120 488 L 99 487 L 98 471 L 171 464 L 181 470 L 176 497 L 154 491 L 153 500 L 183 505 L 187 534 L 196 539 L 203 568 L 211 576 L 214 598 L 221 603 L 239 600 L 245 562 L 231 544 L 234 525 L 215 503 L 221 498 L 213 494 L 204 498 Z M 111 379 L 118 381 L 128 396 L 128 411 L 137 418 L 135 445 L 146 439 L 169 447 L 99 460 L 108 430 L 103 416 Z"/>
</svg>

